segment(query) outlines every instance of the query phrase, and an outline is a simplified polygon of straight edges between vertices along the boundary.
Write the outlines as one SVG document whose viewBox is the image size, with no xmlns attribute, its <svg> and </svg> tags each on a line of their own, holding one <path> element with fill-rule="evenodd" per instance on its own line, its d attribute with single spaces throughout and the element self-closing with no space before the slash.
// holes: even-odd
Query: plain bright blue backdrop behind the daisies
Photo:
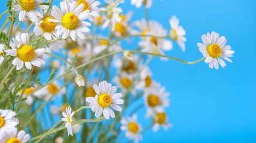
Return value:
<svg viewBox="0 0 256 143">
<path fill-rule="evenodd" d="M 0 2 L 1 13 L 5 2 Z M 55 0 L 54 4 L 59 2 Z M 144 17 L 143 8 L 136 9 L 129 2 L 126 0 L 121 7 L 125 13 L 134 11 L 132 21 Z M 186 30 L 186 52 L 174 43 L 167 55 L 187 61 L 201 58 L 197 42 L 201 42 L 201 35 L 213 30 L 227 38 L 235 53 L 233 63 L 219 70 L 209 69 L 204 62 L 185 65 L 154 58 L 150 63 L 153 79 L 171 92 L 167 114 L 173 128 L 157 133 L 148 130 L 143 134 L 143 142 L 256 142 L 255 7 L 253 0 L 153 1 L 150 20 L 170 29 L 168 19 L 177 15 Z M 132 48 L 135 43 L 137 40 Z M 144 112 L 142 109 L 138 113 L 143 127 L 151 120 L 144 119 Z"/>
</svg>

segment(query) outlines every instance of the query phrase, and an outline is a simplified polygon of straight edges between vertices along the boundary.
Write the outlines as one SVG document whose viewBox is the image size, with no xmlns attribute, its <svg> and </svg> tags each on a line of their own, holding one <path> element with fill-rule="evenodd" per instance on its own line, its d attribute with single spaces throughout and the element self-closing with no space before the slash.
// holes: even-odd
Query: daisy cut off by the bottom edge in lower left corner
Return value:
<svg viewBox="0 0 256 143">
<path fill-rule="evenodd" d="M 30 135 L 24 130 L 18 132 L 17 128 L 11 128 L 7 132 L 0 133 L 0 142 L 19 142 L 25 143 L 30 139 Z"/>
</svg>

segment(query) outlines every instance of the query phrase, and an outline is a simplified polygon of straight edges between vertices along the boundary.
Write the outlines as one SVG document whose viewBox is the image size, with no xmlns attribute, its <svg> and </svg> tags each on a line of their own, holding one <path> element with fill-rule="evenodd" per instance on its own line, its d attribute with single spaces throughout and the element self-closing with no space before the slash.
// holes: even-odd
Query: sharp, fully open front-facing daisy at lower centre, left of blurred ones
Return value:
<svg viewBox="0 0 256 143">
<path fill-rule="evenodd" d="M 124 104 L 124 100 L 120 99 L 122 97 L 121 93 L 115 93 L 116 89 L 116 86 L 112 86 L 106 81 L 100 82 L 99 86 L 94 85 L 97 95 L 86 98 L 86 101 L 90 103 L 89 106 L 95 112 L 95 117 L 98 118 L 103 113 L 105 119 L 109 119 L 109 116 L 115 118 L 112 108 L 116 111 L 122 111 L 118 104 Z"/>
</svg>

